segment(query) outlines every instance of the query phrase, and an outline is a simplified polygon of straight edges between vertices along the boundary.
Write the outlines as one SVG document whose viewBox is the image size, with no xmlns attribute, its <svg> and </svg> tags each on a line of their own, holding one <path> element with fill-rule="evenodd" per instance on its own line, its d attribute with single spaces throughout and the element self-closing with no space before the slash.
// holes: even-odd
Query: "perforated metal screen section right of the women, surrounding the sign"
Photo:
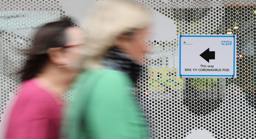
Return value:
<svg viewBox="0 0 256 139">
<path fill-rule="evenodd" d="M 144 66 L 135 82 L 135 100 L 151 137 L 186 138 L 192 129 L 206 129 L 218 139 L 255 138 L 256 1 L 144 3 L 173 19 L 177 35 L 238 36 L 236 79 L 177 78 L 177 39 L 145 42 L 153 52 L 141 59 Z"/>
</svg>

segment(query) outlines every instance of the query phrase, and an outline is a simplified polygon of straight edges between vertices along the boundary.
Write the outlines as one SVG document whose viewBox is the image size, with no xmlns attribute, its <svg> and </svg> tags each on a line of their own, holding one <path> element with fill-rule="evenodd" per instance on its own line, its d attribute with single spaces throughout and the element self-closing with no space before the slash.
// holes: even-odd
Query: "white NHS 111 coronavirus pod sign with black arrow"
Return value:
<svg viewBox="0 0 256 139">
<path fill-rule="evenodd" d="M 180 78 L 235 78 L 236 35 L 179 35 Z"/>
</svg>

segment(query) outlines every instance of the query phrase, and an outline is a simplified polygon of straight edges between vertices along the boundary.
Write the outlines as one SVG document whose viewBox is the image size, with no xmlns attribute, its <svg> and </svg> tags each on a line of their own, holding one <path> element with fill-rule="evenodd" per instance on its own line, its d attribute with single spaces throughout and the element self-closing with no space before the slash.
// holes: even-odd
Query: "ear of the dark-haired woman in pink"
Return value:
<svg viewBox="0 0 256 139">
<path fill-rule="evenodd" d="M 66 66 L 69 64 L 68 59 L 64 57 L 61 47 L 58 48 L 49 48 L 47 54 L 52 63 L 57 66 Z"/>
</svg>

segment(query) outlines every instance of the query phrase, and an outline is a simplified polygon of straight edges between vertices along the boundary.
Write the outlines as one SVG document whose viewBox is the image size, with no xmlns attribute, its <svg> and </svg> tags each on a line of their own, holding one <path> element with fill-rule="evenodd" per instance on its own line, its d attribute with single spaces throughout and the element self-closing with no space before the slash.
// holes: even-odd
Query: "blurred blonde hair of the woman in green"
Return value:
<svg viewBox="0 0 256 139">
<path fill-rule="evenodd" d="M 149 23 L 149 11 L 134 0 L 107 0 L 88 19 L 84 49 L 84 69 L 97 69 L 106 51 L 122 34 L 129 34 Z"/>
</svg>

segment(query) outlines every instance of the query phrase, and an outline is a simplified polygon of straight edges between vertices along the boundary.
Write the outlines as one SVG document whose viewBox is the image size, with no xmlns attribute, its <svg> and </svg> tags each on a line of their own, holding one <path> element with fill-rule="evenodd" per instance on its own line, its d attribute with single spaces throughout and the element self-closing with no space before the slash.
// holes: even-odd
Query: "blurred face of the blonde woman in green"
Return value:
<svg viewBox="0 0 256 139">
<path fill-rule="evenodd" d="M 139 62 L 142 54 L 148 52 L 148 48 L 143 43 L 143 40 L 147 34 L 147 27 L 140 29 L 134 34 L 132 38 L 119 40 L 118 47 L 132 56 L 136 62 Z"/>
</svg>

